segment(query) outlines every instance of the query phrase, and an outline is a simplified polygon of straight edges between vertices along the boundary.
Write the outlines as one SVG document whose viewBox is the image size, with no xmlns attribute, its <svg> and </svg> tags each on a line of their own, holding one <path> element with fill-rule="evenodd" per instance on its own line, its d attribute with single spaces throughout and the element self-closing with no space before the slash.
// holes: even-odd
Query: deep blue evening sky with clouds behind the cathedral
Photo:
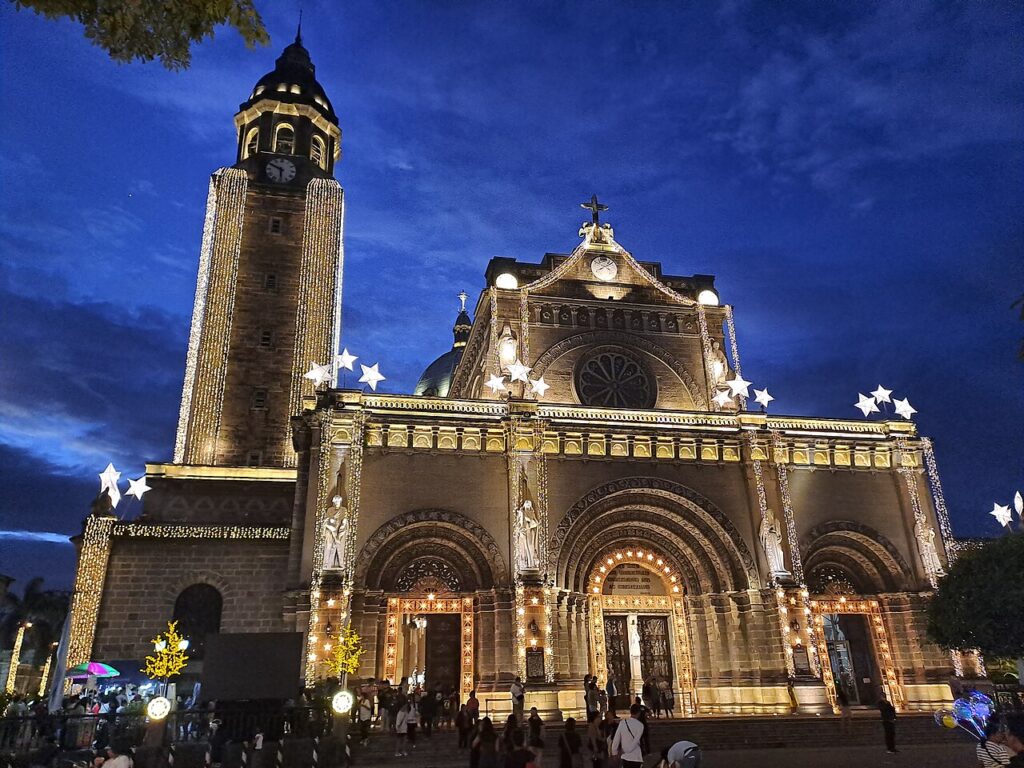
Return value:
<svg viewBox="0 0 1024 768">
<path fill-rule="evenodd" d="M 210 172 L 294 35 L 118 66 L 0 4 L 0 571 L 68 587 L 109 461 L 171 457 Z M 936 439 L 957 534 L 1024 489 L 1019 3 L 304 0 L 340 116 L 343 342 L 409 392 L 496 255 L 620 243 L 713 273 L 773 413 L 878 384 Z M 129 507 L 126 512 L 132 513 Z"/>
</svg>

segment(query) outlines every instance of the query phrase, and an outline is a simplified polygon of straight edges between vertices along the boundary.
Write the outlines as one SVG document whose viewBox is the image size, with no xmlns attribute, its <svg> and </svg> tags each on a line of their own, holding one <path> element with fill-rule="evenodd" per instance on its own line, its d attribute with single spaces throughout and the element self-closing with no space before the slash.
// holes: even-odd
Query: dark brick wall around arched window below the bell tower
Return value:
<svg viewBox="0 0 1024 768">
<path fill-rule="evenodd" d="M 286 632 L 287 541 L 115 539 L 93 646 L 95 658 L 141 659 L 185 587 L 223 598 L 221 632 Z"/>
</svg>

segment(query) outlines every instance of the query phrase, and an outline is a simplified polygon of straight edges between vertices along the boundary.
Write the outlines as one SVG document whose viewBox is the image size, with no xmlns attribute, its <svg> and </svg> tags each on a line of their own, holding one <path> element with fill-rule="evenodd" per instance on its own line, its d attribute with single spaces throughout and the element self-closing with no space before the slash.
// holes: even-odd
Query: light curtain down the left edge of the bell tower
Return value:
<svg viewBox="0 0 1024 768">
<path fill-rule="evenodd" d="M 175 438 L 177 464 L 216 460 L 248 186 L 249 176 L 239 168 L 221 168 L 211 179 Z"/>
</svg>

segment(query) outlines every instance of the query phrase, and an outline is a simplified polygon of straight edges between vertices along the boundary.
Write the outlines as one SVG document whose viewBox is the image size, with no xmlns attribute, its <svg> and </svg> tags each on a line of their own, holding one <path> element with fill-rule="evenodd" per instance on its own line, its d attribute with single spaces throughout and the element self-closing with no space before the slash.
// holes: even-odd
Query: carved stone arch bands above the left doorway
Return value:
<svg viewBox="0 0 1024 768">
<path fill-rule="evenodd" d="M 508 582 L 501 550 L 481 525 L 450 510 L 421 509 L 392 517 L 373 532 L 355 561 L 355 585 L 400 591 L 402 573 L 424 559 L 451 565 L 463 590 Z"/>
</svg>

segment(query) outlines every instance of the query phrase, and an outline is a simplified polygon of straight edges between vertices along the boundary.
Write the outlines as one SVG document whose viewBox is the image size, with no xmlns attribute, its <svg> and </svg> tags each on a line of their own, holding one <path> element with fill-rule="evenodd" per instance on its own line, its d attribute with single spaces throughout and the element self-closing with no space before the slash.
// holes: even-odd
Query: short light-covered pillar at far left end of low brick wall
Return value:
<svg viewBox="0 0 1024 768">
<path fill-rule="evenodd" d="M 106 581 L 106 565 L 111 557 L 111 530 L 115 518 L 90 515 L 85 520 L 82 551 L 75 573 L 75 592 L 71 602 L 71 637 L 68 643 L 68 666 L 88 662 L 96 634 L 99 602 Z"/>
</svg>

